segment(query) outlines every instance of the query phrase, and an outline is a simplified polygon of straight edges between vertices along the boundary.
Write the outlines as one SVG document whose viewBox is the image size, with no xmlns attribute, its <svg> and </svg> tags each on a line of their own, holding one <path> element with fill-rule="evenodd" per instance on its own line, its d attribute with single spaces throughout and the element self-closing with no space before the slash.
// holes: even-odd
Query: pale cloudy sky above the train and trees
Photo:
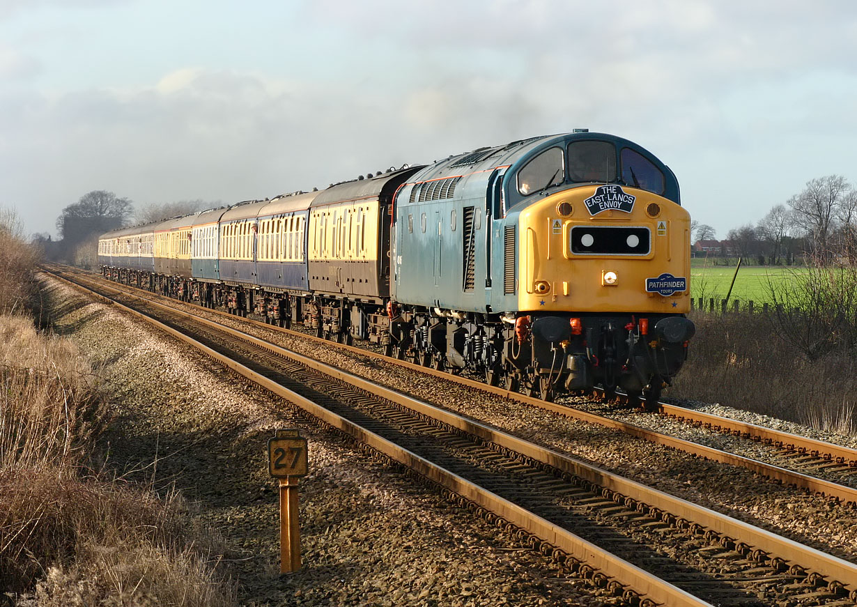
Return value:
<svg viewBox="0 0 857 607">
<path fill-rule="evenodd" d="M 0 0 L 0 206 L 55 233 L 531 135 L 637 141 L 718 237 L 857 184 L 852 0 Z"/>
</svg>

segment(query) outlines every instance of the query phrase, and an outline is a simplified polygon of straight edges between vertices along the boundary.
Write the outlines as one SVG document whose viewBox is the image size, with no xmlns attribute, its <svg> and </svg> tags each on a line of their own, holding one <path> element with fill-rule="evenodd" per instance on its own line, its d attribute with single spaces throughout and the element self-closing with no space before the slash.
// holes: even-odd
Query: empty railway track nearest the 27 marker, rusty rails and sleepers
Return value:
<svg viewBox="0 0 857 607">
<path fill-rule="evenodd" d="M 442 486 L 454 501 L 514 529 L 630 604 L 857 601 L 852 563 L 236 329 L 160 303 L 140 305 L 180 339 L 192 335 L 209 356 Z"/>
</svg>

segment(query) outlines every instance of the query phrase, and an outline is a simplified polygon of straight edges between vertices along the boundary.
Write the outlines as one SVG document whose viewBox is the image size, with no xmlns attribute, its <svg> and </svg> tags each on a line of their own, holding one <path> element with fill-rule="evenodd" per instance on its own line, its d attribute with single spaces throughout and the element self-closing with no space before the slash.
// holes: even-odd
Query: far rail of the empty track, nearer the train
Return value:
<svg viewBox="0 0 857 607">
<path fill-rule="evenodd" d="M 560 454 L 552 449 L 543 448 L 536 444 L 527 442 L 523 439 L 518 438 L 517 436 L 512 436 L 502 430 L 497 430 L 486 424 L 481 424 L 468 418 L 464 418 L 458 414 L 448 412 L 436 406 L 429 405 L 428 403 L 413 399 L 405 394 L 400 394 L 388 388 L 382 388 L 372 382 L 364 380 L 361 377 L 353 376 L 344 370 L 339 370 L 327 364 L 322 364 L 318 361 L 303 358 L 300 354 L 297 354 L 296 352 L 291 352 L 280 346 L 276 346 L 268 342 L 267 340 L 261 340 L 260 338 L 256 338 L 253 335 L 245 334 L 242 331 L 238 331 L 237 329 L 225 327 L 219 324 L 218 322 L 201 319 L 198 316 L 190 314 L 189 312 L 176 310 L 175 308 L 172 308 L 171 306 L 166 306 L 162 303 L 151 301 L 148 301 L 147 303 L 152 304 L 161 309 L 168 310 L 169 312 L 174 314 L 189 316 L 193 318 L 195 322 L 201 322 L 202 324 L 208 327 L 216 328 L 217 330 L 222 331 L 226 334 L 231 334 L 239 339 L 246 340 L 249 343 L 254 344 L 255 346 L 260 346 L 261 348 L 264 348 L 269 352 L 274 352 L 279 356 L 291 358 L 292 360 L 299 360 L 301 364 L 309 366 L 328 376 L 336 377 L 339 380 L 351 383 L 352 385 L 355 385 L 358 388 L 372 392 L 373 394 L 381 395 L 387 400 L 391 400 L 402 406 L 407 406 L 408 408 L 420 412 L 428 417 L 434 418 L 440 421 L 441 423 L 451 425 L 452 427 L 468 432 L 471 435 L 478 436 L 484 441 L 494 442 L 500 445 L 501 447 L 509 448 L 519 454 L 523 454 L 527 457 L 530 457 L 533 460 L 540 461 L 548 466 L 553 466 L 554 468 L 557 468 L 563 472 L 568 472 L 579 478 L 584 478 L 592 484 L 596 484 L 604 489 L 618 493 L 621 496 L 630 497 L 636 502 L 643 502 L 651 508 L 656 508 L 663 512 L 674 514 L 674 516 L 680 519 L 706 527 L 711 531 L 725 536 L 725 538 L 728 538 L 729 540 L 740 540 L 745 544 L 750 544 L 758 550 L 762 550 L 766 554 L 766 556 L 781 559 L 789 567 L 795 566 L 797 568 L 806 570 L 806 572 L 808 572 L 809 574 L 818 574 L 825 578 L 828 582 L 838 582 L 842 584 L 842 586 L 844 586 L 854 598 L 857 598 L 857 565 L 854 565 L 854 563 L 844 561 L 840 558 L 837 558 L 836 556 L 825 554 L 820 550 L 816 550 L 804 544 L 794 542 L 793 540 L 790 540 L 788 538 L 782 538 L 781 536 L 778 536 L 775 533 L 768 532 L 764 529 L 752 526 L 743 521 L 733 519 L 732 517 L 729 517 L 725 514 L 710 510 L 710 508 L 704 508 L 702 506 L 693 504 L 692 502 L 687 502 L 686 500 L 683 500 L 679 497 L 671 496 L 662 491 L 650 488 L 644 484 L 639 484 L 636 481 L 620 477 L 619 475 L 616 475 L 612 472 L 608 472 L 606 470 L 602 470 L 600 468 L 597 468 L 596 466 L 590 466 L 578 460 L 573 460 L 572 458 L 564 454 Z M 141 313 L 137 312 L 136 314 L 139 315 Z M 178 332 L 176 333 L 181 335 Z M 214 352 L 214 354 L 217 353 Z M 220 355 L 218 355 L 217 358 L 221 359 L 225 357 L 221 357 Z M 228 358 L 226 358 L 225 360 L 229 361 Z M 226 364 L 231 368 L 233 368 L 233 365 L 237 365 L 237 363 L 235 363 L 234 361 L 228 362 Z M 255 376 L 258 376 L 258 374 L 255 374 L 255 372 L 253 373 Z M 262 379 L 264 379 L 265 382 L 267 382 L 268 384 L 279 386 L 279 384 L 273 384 L 273 382 L 267 380 L 266 378 Z M 266 388 L 269 388 L 268 385 L 266 385 Z M 287 400 L 291 400 L 291 398 L 288 398 Z M 313 414 L 315 415 L 315 413 Z M 414 457 L 417 456 L 415 455 Z M 458 480 L 464 479 L 458 478 Z M 467 481 L 464 482 L 468 483 Z M 470 484 L 464 486 L 466 487 L 467 491 L 472 490 Z M 452 489 L 452 487 L 449 488 Z M 467 498 L 470 499 L 469 493 L 462 493 L 461 491 L 458 492 L 461 493 L 461 495 L 467 496 Z M 494 496 L 494 494 L 491 495 Z M 497 497 L 497 499 L 502 500 L 502 498 L 500 498 L 499 496 L 494 497 Z M 483 498 L 480 497 L 480 499 Z M 477 502 L 476 500 L 471 501 Z M 500 502 L 498 502 L 499 506 L 492 506 L 491 508 L 488 508 L 487 506 L 483 505 L 482 502 L 477 503 L 479 503 L 479 505 L 481 505 L 483 508 L 488 508 L 495 514 L 502 516 L 504 519 L 514 522 L 512 518 L 509 518 L 506 514 L 503 513 L 509 513 L 510 515 L 514 514 L 515 516 L 518 516 L 520 514 L 516 510 L 516 508 L 518 507 L 515 506 L 510 510 L 507 504 L 511 504 L 511 502 L 506 502 L 505 500 L 503 500 L 503 502 L 505 503 L 500 504 Z M 512 504 L 512 506 L 514 506 L 514 504 Z M 499 510 L 495 508 L 499 508 Z M 544 526 L 545 523 L 548 526 Z M 517 523 L 515 524 L 517 525 Z M 542 539 L 545 539 L 546 541 L 548 541 L 548 543 L 557 545 L 558 547 L 562 548 L 560 544 L 555 544 L 554 541 L 550 539 L 551 537 L 556 537 L 558 528 L 556 528 L 548 521 L 543 521 L 543 523 L 540 522 L 537 525 L 537 528 L 539 532 L 534 531 L 536 535 L 538 535 Z M 545 532 L 548 533 L 548 537 L 542 535 L 542 533 Z M 562 548 L 562 550 L 566 549 Z M 574 554 L 570 551 L 568 552 L 569 554 Z"/>
</svg>

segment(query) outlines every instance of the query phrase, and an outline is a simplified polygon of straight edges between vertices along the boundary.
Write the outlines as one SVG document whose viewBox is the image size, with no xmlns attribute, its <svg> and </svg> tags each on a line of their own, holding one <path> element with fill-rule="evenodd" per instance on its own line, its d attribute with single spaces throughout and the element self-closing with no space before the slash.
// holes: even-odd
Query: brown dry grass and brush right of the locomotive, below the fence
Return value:
<svg viewBox="0 0 857 607">
<path fill-rule="evenodd" d="M 857 432 L 857 361 L 847 351 L 810 359 L 783 339 L 774 319 L 696 313 L 685 368 L 671 394 Z"/>
</svg>

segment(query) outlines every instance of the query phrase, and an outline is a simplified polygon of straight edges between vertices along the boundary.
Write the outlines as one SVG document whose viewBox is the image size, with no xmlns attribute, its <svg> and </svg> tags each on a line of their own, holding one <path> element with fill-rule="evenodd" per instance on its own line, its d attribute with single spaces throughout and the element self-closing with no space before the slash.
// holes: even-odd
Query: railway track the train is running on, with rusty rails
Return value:
<svg viewBox="0 0 857 607">
<path fill-rule="evenodd" d="M 112 288 L 119 291 L 117 287 L 120 285 L 102 280 L 98 276 L 93 276 L 93 274 L 75 271 L 75 275 L 80 279 L 93 281 L 91 284 L 100 283 L 105 285 L 105 288 Z M 96 279 L 98 279 L 98 281 L 96 281 Z M 109 287 L 107 285 L 109 285 Z M 189 303 L 179 303 L 169 297 L 162 297 L 148 291 L 141 291 L 129 286 L 123 286 L 123 289 L 128 289 L 129 291 L 134 292 L 138 297 L 156 298 L 158 300 L 170 302 L 173 305 L 192 305 Z M 201 309 L 198 306 L 193 306 L 193 308 L 204 311 L 205 314 L 210 314 L 213 317 L 226 317 L 236 321 L 238 320 L 236 316 L 229 315 L 219 310 Z M 317 340 L 326 344 L 331 344 L 331 342 L 320 340 L 315 336 L 274 327 L 249 318 L 241 318 L 240 321 L 248 323 L 248 326 L 255 324 L 256 326 L 273 331 L 299 335 L 303 339 Z M 835 499 L 838 502 L 857 506 L 857 487 L 854 486 L 854 478 L 855 475 L 857 475 L 857 450 L 853 448 L 843 447 L 841 445 L 828 442 L 820 442 L 805 436 L 789 434 L 782 430 L 764 428 L 763 426 L 747 424 L 734 419 L 722 418 L 711 415 L 710 413 L 693 411 L 692 409 L 669 405 L 667 403 L 659 403 L 655 412 L 647 414 L 646 418 L 639 418 L 645 420 L 647 418 L 651 418 L 652 415 L 662 415 L 686 424 L 692 424 L 699 428 L 708 429 L 712 432 L 727 433 L 732 436 L 739 437 L 742 440 L 752 441 L 758 446 L 764 446 L 770 449 L 770 460 L 767 462 L 759 461 L 740 454 L 730 453 L 722 449 L 712 448 L 699 442 L 692 442 L 674 436 L 669 436 L 668 434 L 653 430 L 651 427 L 632 424 L 609 415 L 585 411 L 582 408 L 575 407 L 566 402 L 560 401 L 557 403 L 549 403 L 541 399 L 507 390 L 506 388 L 488 386 L 484 382 L 470 379 L 468 377 L 456 376 L 446 371 L 429 369 L 407 361 L 388 358 L 379 352 L 372 352 L 356 346 L 345 346 L 339 344 L 337 347 L 351 352 L 359 352 L 369 358 L 383 360 L 386 364 L 398 364 L 399 366 L 407 369 L 419 370 L 421 373 L 425 373 L 430 376 L 442 377 L 446 381 L 456 382 L 468 388 L 479 390 L 487 394 L 494 394 L 495 396 L 500 396 L 507 400 L 521 402 L 529 406 L 536 406 L 549 412 L 560 413 L 568 418 L 578 419 L 590 424 L 599 424 L 614 430 L 620 430 L 629 436 L 635 436 L 645 441 L 660 444 L 668 448 L 674 448 L 698 457 L 703 457 L 707 460 L 717 461 L 732 466 L 740 466 L 766 478 L 770 478 L 777 483 L 799 487 L 801 489 L 808 490 L 813 494 L 829 496 L 831 499 Z"/>
</svg>

